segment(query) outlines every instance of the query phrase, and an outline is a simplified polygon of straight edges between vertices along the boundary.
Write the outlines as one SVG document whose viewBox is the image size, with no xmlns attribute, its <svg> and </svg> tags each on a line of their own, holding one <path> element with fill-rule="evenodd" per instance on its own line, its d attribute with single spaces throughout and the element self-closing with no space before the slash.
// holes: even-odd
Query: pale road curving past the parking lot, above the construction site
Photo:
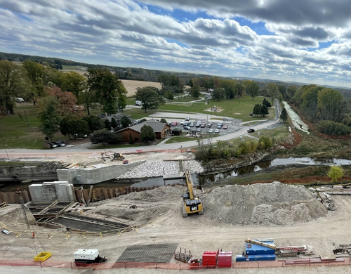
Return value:
<svg viewBox="0 0 351 274">
<path fill-rule="evenodd" d="M 252 129 L 260 130 L 266 129 L 270 126 L 274 126 L 275 124 L 280 122 L 280 105 L 279 100 L 275 99 L 275 118 L 258 124 L 257 126 L 251 126 Z M 240 129 L 239 131 L 228 133 L 223 136 L 218 136 L 216 138 L 211 138 L 211 142 L 215 143 L 216 141 L 227 141 L 234 138 L 240 138 L 240 136 L 244 136 L 247 134 L 247 128 Z M 159 145 L 152 145 L 152 146 L 140 146 L 140 147 L 133 147 L 133 148 L 126 148 L 125 150 L 116 149 L 118 152 L 121 153 L 131 153 L 136 152 L 136 150 L 142 150 L 143 152 L 152 152 L 157 150 L 176 150 L 180 148 L 192 148 L 197 145 L 197 141 L 189 141 L 189 142 L 182 142 L 182 143 L 160 143 Z M 60 157 L 68 157 L 70 155 L 79 153 L 82 155 L 99 155 L 101 149 L 97 150 L 88 150 L 84 146 L 81 148 L 71 147 L 71 148 L 60 148 L 58 150 L 27 150 L 27 149 L 8 149 L 0 150 L 0 159 L 51 159 L 51 158 L 60 158 Z"/>
</svg>

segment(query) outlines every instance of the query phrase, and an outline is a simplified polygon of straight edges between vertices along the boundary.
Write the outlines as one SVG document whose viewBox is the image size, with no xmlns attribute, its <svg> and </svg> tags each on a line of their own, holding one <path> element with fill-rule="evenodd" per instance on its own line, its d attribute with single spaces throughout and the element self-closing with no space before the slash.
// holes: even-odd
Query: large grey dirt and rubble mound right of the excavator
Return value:
<svg viewBox="0 0 351 274">
<path fill-rule="evenodd" d="M 225 185 L 201 199 L 205 216 L 232 224 L 286 226 L 326 215 L 306 188 L 279 182 Z"/>
</svg>

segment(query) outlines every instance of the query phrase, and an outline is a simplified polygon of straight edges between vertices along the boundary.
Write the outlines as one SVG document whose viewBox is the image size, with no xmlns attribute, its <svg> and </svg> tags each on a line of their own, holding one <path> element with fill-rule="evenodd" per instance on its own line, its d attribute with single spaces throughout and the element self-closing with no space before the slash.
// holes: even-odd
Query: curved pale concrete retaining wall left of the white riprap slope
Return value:
<svg viewBox="0 0 351 274">
<path fill-rule="evenodd" d="M 138 167 L 138 165 L 143 164 L 146 160 L 133 162 L 131 164 L 117 164 L 107 167 L 98 168 L 74 168 L 74 169 L 58 169 L 58 180 L 68 181 L 73 184 L 95 184 L 104 181 L 109 181 L 122 174 L 126 171 Z"/>
</svg>

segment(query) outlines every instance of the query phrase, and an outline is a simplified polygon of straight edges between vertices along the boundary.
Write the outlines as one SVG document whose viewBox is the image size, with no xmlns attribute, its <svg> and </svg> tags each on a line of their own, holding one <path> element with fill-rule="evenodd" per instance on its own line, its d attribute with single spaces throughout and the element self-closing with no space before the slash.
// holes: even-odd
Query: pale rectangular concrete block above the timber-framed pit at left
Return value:
<svg viewBox="0 0 351 274">
<path fill-rule="evenodd" d="M 73 185 L 67 181 L 34 183 L 29 185 L 32 202 L 73 202 Z"/>
</svg>

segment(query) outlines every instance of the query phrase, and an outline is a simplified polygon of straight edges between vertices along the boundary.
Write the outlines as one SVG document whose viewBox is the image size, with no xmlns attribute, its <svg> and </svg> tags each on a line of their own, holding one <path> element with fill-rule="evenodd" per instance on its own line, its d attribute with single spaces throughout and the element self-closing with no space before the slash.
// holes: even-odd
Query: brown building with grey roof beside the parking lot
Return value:
<svg viewBox="0 0 351 274">
<path fill-rule="evenodd" d="M 132 139 L 134 142 L 139 142 L 141 128 L 145 124 L 147 126 L 152 127 L 152 129 L 154 130 L 154 133 L 156 133 L 156 139 L 158 139 L 158 140 L 171 134 L 171 126 L 168 126 L 168 124 L 166 124 L 166 123 L 157 122 L 154 119 L 150 119 L 150 120 L 142 122 L 140 124 L 135 124 L 133 126 L 129 126 L 126 129 L 121 129 L 120 131 L 117 131 L 117 133 L 121 134 L 124 142 L 129 141 L 129 138 L 130 138 L 129 136 L 132 136 Z"/>
</svg>

